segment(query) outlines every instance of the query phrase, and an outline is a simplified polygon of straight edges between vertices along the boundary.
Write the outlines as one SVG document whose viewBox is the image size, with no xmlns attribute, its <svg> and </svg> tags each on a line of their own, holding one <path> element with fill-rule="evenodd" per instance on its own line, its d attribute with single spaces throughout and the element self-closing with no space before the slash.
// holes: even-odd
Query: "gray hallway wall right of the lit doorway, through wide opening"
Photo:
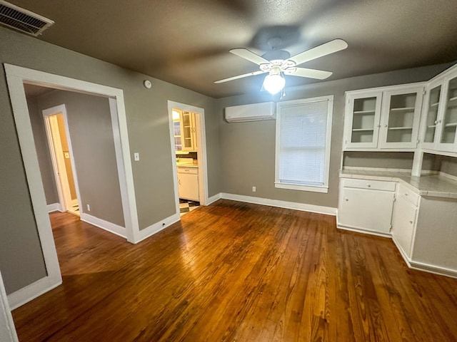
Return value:
<svg viewBox="0 0 457 342">
<path fill-rule="evenodd" d="M 39 96 L 36 102 L 40 113 L 56 105 L 66 106 L 80 211 L 124 227 L 108 98 L 54 90 Z"/>
</svg>

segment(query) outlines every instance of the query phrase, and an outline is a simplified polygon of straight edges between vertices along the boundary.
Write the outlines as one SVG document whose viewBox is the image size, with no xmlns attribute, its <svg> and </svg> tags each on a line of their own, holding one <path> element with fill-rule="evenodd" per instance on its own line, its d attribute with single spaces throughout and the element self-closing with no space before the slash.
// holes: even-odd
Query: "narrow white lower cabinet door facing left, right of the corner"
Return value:
<svg viewBox="0 0 457 342">
<path fill-rule="evenodd" d="M 413 194 L 405 186 L 398 185 L 396 202 L 393 207 L 392 238 L 403 257 L 407 259 L 411 259 L 418 200 L 418 195 Z"/>
</svg>

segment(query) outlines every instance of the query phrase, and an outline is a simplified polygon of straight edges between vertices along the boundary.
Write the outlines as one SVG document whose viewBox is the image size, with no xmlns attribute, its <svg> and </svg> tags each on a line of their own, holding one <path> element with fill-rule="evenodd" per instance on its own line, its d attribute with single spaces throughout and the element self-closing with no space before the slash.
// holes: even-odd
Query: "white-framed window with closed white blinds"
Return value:
<svg viewBox="0 0 457 342">
<path fill-rule="evenodd" d="M 328 192 L 333 95 L 278 103 L 275 187 Z"/>
</svg>

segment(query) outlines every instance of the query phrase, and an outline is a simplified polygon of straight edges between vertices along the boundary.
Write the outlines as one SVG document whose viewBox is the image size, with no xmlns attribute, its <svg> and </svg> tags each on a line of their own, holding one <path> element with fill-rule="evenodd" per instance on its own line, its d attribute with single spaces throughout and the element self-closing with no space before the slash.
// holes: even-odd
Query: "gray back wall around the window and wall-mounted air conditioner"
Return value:
<svg viewBox="0 0 457 342">
<path fill-rule="evenodd" d="M 266 92 L 259 92 L 258 94 L 238 95 L 219 99 L 221 153 L 223 156 L 221 158 L 223 192 L 315 204 L 324 207 L 337 207 L 338 170 L 341 166 L 343 140 L 344 92 L 426 81 L 445 70 L 448 66 L 446 64 L 413 68 L 323 82 L 310 86 L 286 88 L 286 97 L 283 100 L 334 95 L 330 176 L 327 194 L 276 189 L 274 187 L 275 121 L 226 123 L 223 120 L 223 111 L 227 106 L 271 100 L 278 101 L 278 95 L 271 96 Z M 252 186 L 256 186 L 257 192 L 251 192 Z"/>
</svg>

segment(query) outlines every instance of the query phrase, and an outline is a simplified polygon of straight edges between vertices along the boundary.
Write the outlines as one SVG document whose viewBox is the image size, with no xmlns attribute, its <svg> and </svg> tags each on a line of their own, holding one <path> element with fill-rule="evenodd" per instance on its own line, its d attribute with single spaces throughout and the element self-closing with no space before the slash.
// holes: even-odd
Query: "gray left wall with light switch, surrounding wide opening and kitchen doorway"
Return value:
<svg viewBox="0 0 457 342">
<path fill-rule="evenodd" d="M 174 213 L 174 187 L 167 100 L 204 108 L 208 148 L 209 195 L 221 192 L 216 100 L 155 80 L 65 48 L 0 28 L 0 63 L 124 90 L 139 227 L 144 229 Z M 150 79 L 152 89 L 144 88 Z M 0 269 L 11 293 L 46 274 L 21 160 L 4 72 L 0 75 Z M 133 159 L 133 158 L 132 158 Z"/>
</svg>

